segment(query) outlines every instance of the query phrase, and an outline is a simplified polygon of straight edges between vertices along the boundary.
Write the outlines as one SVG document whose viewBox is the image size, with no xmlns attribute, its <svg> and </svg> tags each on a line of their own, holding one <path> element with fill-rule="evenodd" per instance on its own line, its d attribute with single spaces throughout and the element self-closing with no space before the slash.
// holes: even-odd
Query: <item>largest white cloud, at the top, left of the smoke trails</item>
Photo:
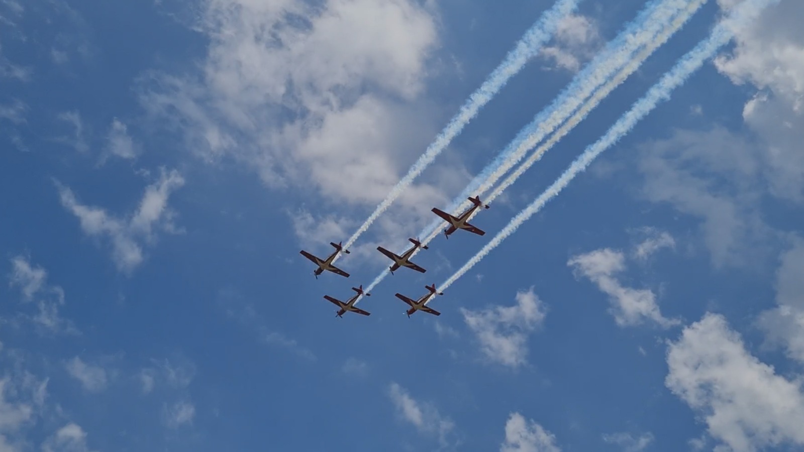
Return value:
<svg viewBox="0 0 804 452">
<path fill-rule="evenodd" d="M 209 38 L 202 70 L 144 78 L 142 105 L 207 162 L 234 158 L 269 187 L 301 187 L 338 208 L 375 204 L 427 146 L 441 114 L 424 95 L 438 43 L 433 7 L 211 0 L 196 26 Z M 423 227 L 432 214 L 422 199 L 446 202 L 444 187 L 466 183 L 454 169 L 446 178 L 433 171 L 396 203 L 405 210 L 392 215 L 406 221 L 378 228 Z"/>
</svg>

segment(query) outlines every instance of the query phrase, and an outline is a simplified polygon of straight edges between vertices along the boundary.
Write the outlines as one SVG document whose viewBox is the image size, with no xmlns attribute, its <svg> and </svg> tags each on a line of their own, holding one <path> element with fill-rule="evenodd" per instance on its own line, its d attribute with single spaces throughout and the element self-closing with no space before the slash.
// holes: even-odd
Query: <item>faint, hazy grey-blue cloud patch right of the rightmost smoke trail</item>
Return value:
<svg viewBox="0 0 804 452">
<path fill-rule="evenodd" d="M 642 148 L 642 195 L 702 220 L 713 265 L 746 265 L 762 257 L 771 231 L 761 217 L 765 182 L 756 146 L 715 127 L 677 131 Z"/>
</svg>

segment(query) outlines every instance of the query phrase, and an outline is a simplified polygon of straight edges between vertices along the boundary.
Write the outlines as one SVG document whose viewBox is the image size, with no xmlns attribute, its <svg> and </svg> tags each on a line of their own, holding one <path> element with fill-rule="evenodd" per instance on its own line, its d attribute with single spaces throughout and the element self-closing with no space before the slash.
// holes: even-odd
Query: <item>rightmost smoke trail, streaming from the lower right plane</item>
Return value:
<svg viewBox="0 0 804 452">
<path fill-rule="evenodd" d="M 659 80 L 657 84 L 654 84 L 642 99 L 636 101 L 631 109 L 620 117 L 603 137 L 593 143 L 593 145 L 587 147 L 584 153 L 580 154 L 580 156 L 572 162 L 572 165 L 564 171 L 564 174 L 556 179 L 556 182 L 552 183 L 552 185 L 539 195 L 531 205 L 527 206 L 527 208 L 523 209 L 522 212 L 519 212 L 517 216 L 511 219 L 511 222 L 508 223 L 497 236 L 494 236 L 486 246 L 467 261 L 461 269 L 458 269 L 453 276 L 444 281 L 441 287 L 439 287 L 439 290 L 445 290 L 447 287 L 451 286 L 453 282 L 457 281 L 458 278 L 481 261 L 483 257 L 486 257 L 498 244 L 502 243 L 508 236 L 516 232 L 521 224 L 536 212 L 539 212 L 539 210 L 544 207 L 544 204 L 555 198 L 564 187 L 567 187 L 576 175 L 581 171 L 585 171 L 589 164 L 592 163 L 601 152 L 608 149 L 628 134 L 638 121 L 642 120 L 651 110 L 656 108 L 659 102 L 669 100 L 671 92 L 675 88 L 678 88 L 687 81 L 687 78 L 689 78 L 693 72 L 703 66 L 706 60 L 712 58 L 720 47 L 723 47 L 732 39 L 734 28 L 745 25 L 745 23 L 755 18 L 765 7 L 776 4 L 777 2 L 779 2 L 779 0 L 745 0 L 745 2 L 736 6 L 734 10 L 732 10 L 732 14 L 723 22 L 719 23 L 707 39 L 704 39 L 704 41 L 700 42 L 692 51 L 684 55 L 671 71 L 662 76 L 662 79 Z"/>
</svg>

